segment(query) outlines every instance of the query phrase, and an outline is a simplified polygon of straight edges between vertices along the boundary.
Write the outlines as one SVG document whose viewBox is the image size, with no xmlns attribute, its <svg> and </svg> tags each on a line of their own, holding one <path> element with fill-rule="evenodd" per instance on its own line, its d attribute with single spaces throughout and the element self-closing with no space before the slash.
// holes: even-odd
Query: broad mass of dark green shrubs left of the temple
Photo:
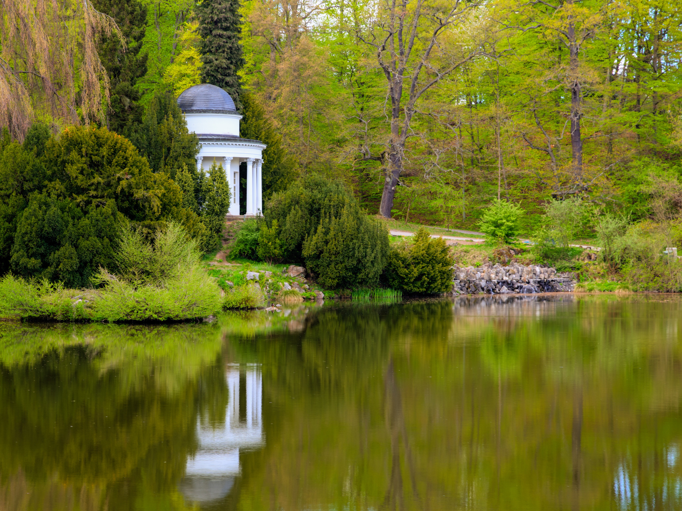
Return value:
<svg viewBox="0 0 682 511">
<path fill-rule="evenodd" d="M 117 226 L 126 220 L 148 238 L 167 221 L 179 221 L 202 249 L 212 248 L 229 187 L 215 172 L 192 208 L 184 206 L 196 203 L 190 181 L 185 196 L 168 174 L 153 172 L 129 140 L 104 127 L 70 127 L 52 137 L 36 124 L 24 144 L 3 137 L 0 274 L 12 270 L 27 279 L 87 286 L 98 266 L 110 267 Z"/>
</svg>

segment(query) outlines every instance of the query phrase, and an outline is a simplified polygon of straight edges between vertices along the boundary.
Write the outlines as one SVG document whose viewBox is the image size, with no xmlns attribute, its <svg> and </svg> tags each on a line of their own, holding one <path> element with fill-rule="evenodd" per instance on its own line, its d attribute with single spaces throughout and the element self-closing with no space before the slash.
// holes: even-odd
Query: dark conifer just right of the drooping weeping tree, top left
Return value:
<svg viewBox="0 0 682 511">
<path fill-rule="evenodd" d="M 125 37 L 125 48 L 118 37 L 102 35 L 98 54 L 110 82 L 110 104 L 106 110 L 106 127 L 128 135 L 132 125 L 142 122 L 144 107 L 135 85 L 147 73 L 147 53 L 140 55 L 147 7 L 139 0 L 95 0 L 95 9 L 116 20 Z"/>
</svg>

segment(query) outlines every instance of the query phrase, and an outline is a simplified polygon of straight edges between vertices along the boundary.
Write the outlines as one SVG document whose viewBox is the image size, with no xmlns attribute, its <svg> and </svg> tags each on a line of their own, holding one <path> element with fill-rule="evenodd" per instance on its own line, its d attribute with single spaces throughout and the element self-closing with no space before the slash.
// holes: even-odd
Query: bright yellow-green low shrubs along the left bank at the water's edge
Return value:
<svg viewBox="0 0 682 511">
<path fill-rule="evenodd" d="M 201 267 L 195 242 L 176 223 L 153 243 L 132 231 L 121 234 L 117 273 L 100 268 L 100 290 L 70 290 L 60 283 L 0 281 L 0 313 L 57 321 L 165 321 L 220 311 L 220 288 Z"/>
</svg>

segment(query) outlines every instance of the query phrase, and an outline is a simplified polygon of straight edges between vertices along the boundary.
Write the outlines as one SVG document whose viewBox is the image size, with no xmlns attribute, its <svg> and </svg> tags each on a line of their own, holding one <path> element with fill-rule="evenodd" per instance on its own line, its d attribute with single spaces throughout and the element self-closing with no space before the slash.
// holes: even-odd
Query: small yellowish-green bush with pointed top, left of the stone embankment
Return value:
<svg viewBox="0 0 682 511">
<path fill-rule="evenodd" d="M 391 288 L 409 293 L 444 293 L 452 288 L 452 260 L 443 238 L 431 238 L 424 228 L 411 247 L 394 249 L 384 275 Z"/>
</svg>

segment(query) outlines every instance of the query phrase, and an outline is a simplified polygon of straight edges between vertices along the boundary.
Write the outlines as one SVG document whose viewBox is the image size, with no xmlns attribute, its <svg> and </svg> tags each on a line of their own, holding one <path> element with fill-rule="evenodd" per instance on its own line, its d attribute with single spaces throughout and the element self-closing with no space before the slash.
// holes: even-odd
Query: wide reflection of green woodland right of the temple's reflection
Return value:
<svg viewBox="0 0 682 511">
<path fill-rule="evenodd" d="M 681 482 L 679 467 L 654 462 L 682 431 L 679 300 L 507 305 L 338 307 L 250 343 L 277 416 L 235 501 L 623 508 L 615 495 L 635 484 L 620 474 L 637 481 L 632 509 L 679 508 L 662 479 Z"/>
</svg>

